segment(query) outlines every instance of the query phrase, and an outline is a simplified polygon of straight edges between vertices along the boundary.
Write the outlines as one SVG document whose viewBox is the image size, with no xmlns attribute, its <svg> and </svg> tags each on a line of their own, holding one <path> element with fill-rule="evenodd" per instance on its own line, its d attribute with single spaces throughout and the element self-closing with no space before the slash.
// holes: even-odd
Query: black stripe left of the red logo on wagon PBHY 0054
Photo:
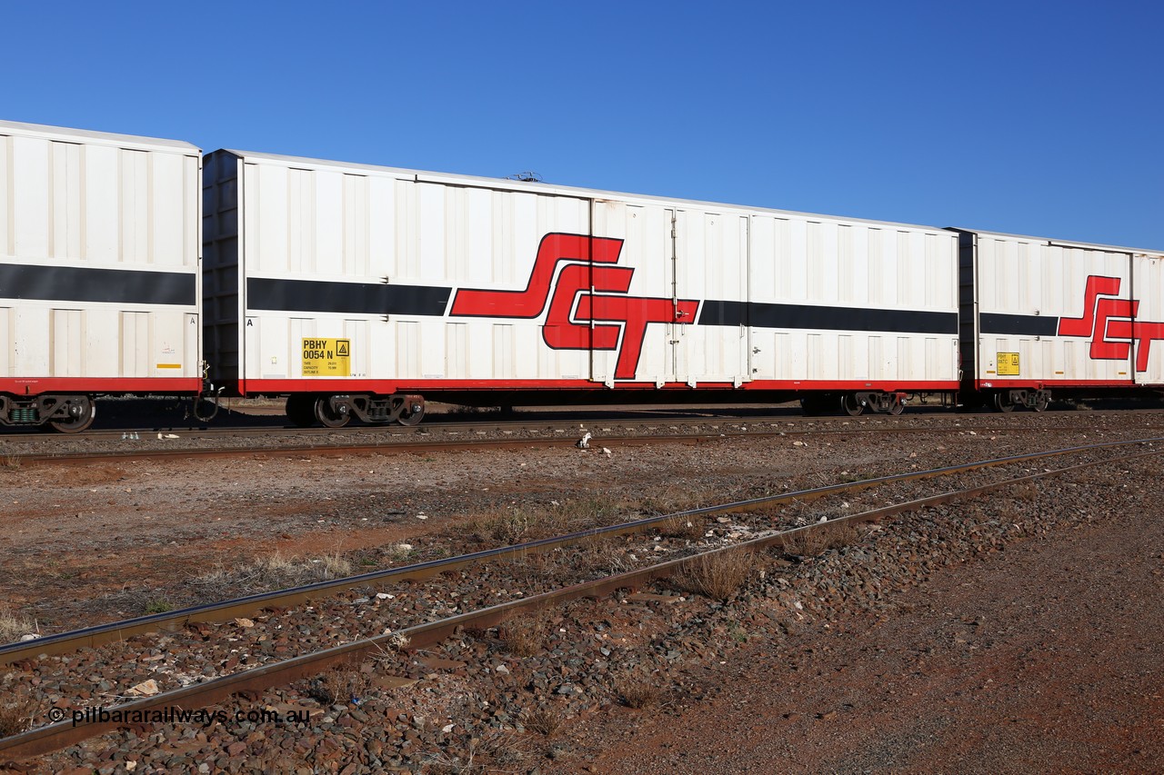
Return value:
<svg viewBox="0 0 1164 775">
<path fill-rule="evenodd" d="M 248 310 L 340 312 L 364 315 L 443 315 L 449 287 L 251 277 Z"/>
</svg>

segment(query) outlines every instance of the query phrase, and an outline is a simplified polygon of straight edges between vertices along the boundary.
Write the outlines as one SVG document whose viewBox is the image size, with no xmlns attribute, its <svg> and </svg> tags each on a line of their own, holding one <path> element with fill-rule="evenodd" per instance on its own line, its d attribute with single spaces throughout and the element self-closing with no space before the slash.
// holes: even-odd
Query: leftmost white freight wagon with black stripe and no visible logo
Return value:
<svg viewBox="0 0 1164 775">
<path fill-rule="evenodd" d="M 199 179 L 189 143 L 0 121 L 0 424 L 201 389 Z"/>
</svg>

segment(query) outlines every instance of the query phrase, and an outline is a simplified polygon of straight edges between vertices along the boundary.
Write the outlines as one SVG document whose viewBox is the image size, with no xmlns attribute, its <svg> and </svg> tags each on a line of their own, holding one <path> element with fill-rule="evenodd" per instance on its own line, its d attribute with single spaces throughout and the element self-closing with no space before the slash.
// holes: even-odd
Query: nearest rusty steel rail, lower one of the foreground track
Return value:
<svg viewBox="0 0 1164 775">
<path fill-rule="evenodd" d="M 1136 453 L 1133 455 L 1126 455 L 1121 457 L 1108 457 L 1106 460 L 1091 461 L 1087 463 L 1070 465 L 1052 471 L 1039 471 L 1036 474 L 1005 479 L 1001 482 L 992 482 L 989 484 L 977 485 L 973 488 L 967 488 L 965 490 L 944 492 L 941 495 L 918 498 L 916 500 L 909 500 L 892 506 L 885 506 L 882 509 L 874 509 L 872 511 L 866 511 L 858 514 L 839 517 L 837 519 L 830 519 L 824 522 L 815 522 L 812 525 L 795 527 L 787 531 L 776 531 L 768 535 L 762 535 L 752 539 L 750 541 L 744 541 L 733 546 L 721 547 L 709 552 L 687 555 L 684 557 L 677 557 L 675 560 L 669 560 L 667 562 L 648 566 L 646 568 L 639 568 L 637 570 L 617 574 L 615 576 L 608 576 L 604 578 L 598 578 L 589 582 L 572 584 L 569 586 L 563 586 L 548 592 L 532 595 L 527 598 L 523 598 L 519 600 L 501 603 L 498 605 L 480 609 L 477 611 L 470 611 L 467 613 L 461 613 L 446 619 L 440 619 L 438 621 L 414 625 L 412 627 L 398 630 L 389 634 L 377 635 L 363 640 L 356 640 L 349 644 L 345 644 L 342 646 L 334 646 L 332 648 L 327 648 L 321 652 L 315 652 L 312 654 L 303 654 L 300 656 L 290 660 L 284 660 L 282 662 L 274 662 L 271 664 L 265 664 L 263 667 L 254 668 L 250 670 L 243 670 L 241 673 L 235 673 L 228 676 L 212 678 L 205 683 L 184 687 L 182 689 L 176 689 L 173 691 L 155 695 L 154 697 L 148 697 L 136 702 L 118 705 L 116 711 L 122 714 L 132 714 L 135 712 L 148 714 L 149 711 L 165 709 L 165 708 L 196 708 L 196 706 L 206 708 L 213 703 L 222 702 L 229 698 L 230 696 L 243 691 L 261 692 L 272 687 L 286 685 L 294 681 L 318 675 L 319 673 L 326 670 L 327 668 L 340 664 L 342 662 L 354 663 L 362 661 L 363 659 L 367 659 L 369 656 L 382 655 L 384 653 L 392 653 L 399 650 L 402 642 L 404 642 L 404 646 L 406 646 L 410 649 L 432 646 L 454 634 L 457 627 L 478 627 L 478 628 L 491 627 L 494 625 L 501 624 L 502 621 L 510 618 L 514 612 L 520 610 L 526 610 L 526 609 L 539 610 L 548 607 L 554 604 L 567 603 L 569 600 L 579 599 L 582 597 L 602 597 L 618 589 L 626 589 L 626 588 L 634 589 L 655 578 L 670 576 L 675 571 L 681 570 L 708 556 L 715 556 L 731 552 L 753 552 L 755 549 L 766 548 L 769 546 L 774 546 L 776 543 L 779 543 L 780 546 L 786 546 L 789 541 L 795 540 L 795 538 L 799 535 L 812 532 L 815 529 L 823 529 L 832 525 L 842 522 L 858 524 L 858 522 L 878 521 L 886 517 L 911 511 L 920 511 L 929 506 L 950 503 L 952 500 L 958 500 L 967 496 L 984 495 L 1002 488 L 1013 486 L 1015 484 L 1020 484 L 1023 482 L 1031 482 L 1035 479 L 1050 476 L 1060 476 L 1063 474 L 1083 470 L 1086 468 L 1094 468 L 1096 465 L 1105 465 L 1109 463 L 1123 462 L 1140 457 L 1148 457 L 1151 455 L 1158 455 L 1162 452 L 1164 450 L 1150 450 L 1144 453 Z M 402 641 L 402 639 L 407 639 L 407 640 Z M 120 720 L 112 720 L 112 719 L 100 720 L 100 718 L 98 718 L 97 720 L 85 720 L 77 724 L 73 724 L 71 720 L 68 721 L 63 720 L 48 726 L 29 730 L 28 732 L 23 732 L 21 734 L 16 734 L 9 738 L 0 739 L 0 754 L 12 756 L 14 759 L 36 756 L 52 751 L 58 751 L 61 748 L 74 745 L 77 742 L 95 737 L 98 734 L 102 734 L 114 728 L 129 725 L 130 724 Z"/>
</svg>

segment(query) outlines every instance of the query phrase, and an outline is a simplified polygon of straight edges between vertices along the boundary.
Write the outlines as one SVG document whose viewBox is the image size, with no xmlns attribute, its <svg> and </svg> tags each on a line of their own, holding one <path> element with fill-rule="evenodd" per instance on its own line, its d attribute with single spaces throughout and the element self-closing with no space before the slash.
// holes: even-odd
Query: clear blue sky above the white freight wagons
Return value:
<svg viewBox="0 0 1164 775">
<path fill-rule="evenodd" d="M 1159 3 L 0 10 L 8 120 L 1164 248 Z"/>
</svg>

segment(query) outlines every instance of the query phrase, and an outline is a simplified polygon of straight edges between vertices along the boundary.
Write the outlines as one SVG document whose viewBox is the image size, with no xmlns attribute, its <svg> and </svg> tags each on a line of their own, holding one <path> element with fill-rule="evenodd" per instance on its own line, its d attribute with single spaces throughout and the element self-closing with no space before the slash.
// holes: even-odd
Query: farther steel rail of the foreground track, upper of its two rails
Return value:
<svg viewBox="0 0 1164 775">
<path fill-rule="evenodd" d="M 177 611 L 168 611 L 165 613 L 154 613 L 144 617 L 136 617 L 133 619 L 125 619 L 121 621 L 94 625 L 92 627 L 84 627 L 81 630 L 73 630 L 69 632 L 57 633 L 55 635 L 45 635 L 42 638 L 37 638 L 35 640 L 8 644 L 0 646 L 0 664 L 6 664 L 6 663 L 10 664 L 13 662 L 19 662 L 21 660 L 33 659 L 41 654 L 45 655 L 65 654 L 86 647 L 97 648 L 104 644 L 127 640 L 135 635 L 149 632 L 173 632 L 192 621 L 207 621 L 207 623 L 229 621 L 239 617 L 249 617 L 267 607 L 272 607 L 272 606 L 291 607 L 293 605 L 301 604 L 308 599 L 318 598 L 321 595 L 326 595 L 328 592 L 335 592 L 342 589 L 348 589 L 352 586 L 359 586 L 363 584 L 370 584 L 374 582 L 383 583 L 383 582 L 400 582 L 400 581 L 420 581 L 425 578 L 431 578 L 446 570 L 461 570 L 466 567 L 478 564 L 488 560 L 504 560 L 513 556 L 526 555 L 530 553 L 537 554 L 544 552 L 552 552 L 553 549 L 556 549 L 559 547 L 577 543 L 580 541 L 595 536 L 629 535 L 633 533 L 641 533 L 655 525 L 659 525 L 660 522 L 675 518 L 704 517 L 710 514 L 747 511 L 757 506 L 768 506 L 781 503 L 790 503 L 795 500 L 815 500 L 829 495 L 838 495 L 842 492 L 857 492 L 868 488 L 879 486 L 882 484 L 921 481 L 941 476 L 951 476 L 954 474 L 963 474 L 966 471 L 973 471 L 984 468 L 1007 465 L 1012 463 L 1042 460 L 1046 457 L 1056 457 L 1079 452 L 1088 452 L 1088 450 L 1103 449 L 1110 447 L 1128 447 L 1134 445 L 1155 443 L 1162 441 L 1164 441 L 1164 436 L 1152 438 L 1152 439 L 1136 439 L 1130 441 L 1107 441 L 1096 445 L 1086 445 L 1081 447 L 1066 447 L 1063 449 L 1052 449 L 1041 453 L 1027 453 L 1023 455 L 995 457 L 991 460 L 975 461 L 971 463 L 959 463 L 957 465 L 946 465 L 943 468 L 929 469 L 924 471 L 913 471 L 909 474 L 893 474 L 889 476 L 882 476 L 871 479 L 861 479 L 860 482 L 829 484 L 807 490 L 795 490 L 792 492 L 783 492 L 780 495 L 750 498 L 746 500 L 739 500 L 730 504 L 703 506 L 701 509 L 691 509 L 688 511 L 680 511 L 670 514 L 660 514 L 656 517 L 645 517 L 643 519 L 637 519 L 627 522 L 619 522 L 616 525 L 591 527 L 584 531 L 569 533 L 567 535 L 539 539 L 537 541 L 528 541 L 525 543 L 517 543 L 506 547 L 497 547 L 494 549 L 483 549 L 481 552 L 474 552 L 470 554 L 459 555 L 455 557 L 430 560 L 426 562 L 420 562 L 411 566 L 402 566 L 398 568 L 389 568 L 385 570 L 375 570 L 357 576 L 347 576 L 345 578 L 315 582 L 313 584 L 306 584 L 304 586 L 274 590 L 270 592 L 260 592 L 256 595 L 248 595 L 244 597 L 234 598 L 229 600 L 207 603 L 204 605 L 196 605 L 185 609 L 179 609 Z"/>
</svg>

